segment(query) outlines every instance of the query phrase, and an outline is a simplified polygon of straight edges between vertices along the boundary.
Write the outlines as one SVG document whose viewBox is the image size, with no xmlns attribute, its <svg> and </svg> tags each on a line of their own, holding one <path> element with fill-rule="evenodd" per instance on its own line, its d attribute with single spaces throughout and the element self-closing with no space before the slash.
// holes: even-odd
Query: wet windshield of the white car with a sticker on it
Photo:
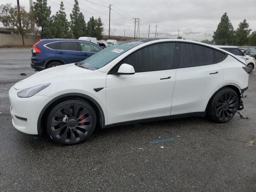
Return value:
<svg viewBox="0 0 256 192">
<path fill-rule="evenodd" d="M 120 44 L 115 44 L 108 48 L 105 48 L 104 50 L 101 50 L 100 52 L 97 52 L 96 54 L 90 56 L 84 61 L 76 63 L 76 65 L 89 70 L 96 70 L 104 67 L 106 64 L 119 57 L 126 51 L 143 43 L 144 42 L 142 41 L 128 41 Z"/>
</svg>

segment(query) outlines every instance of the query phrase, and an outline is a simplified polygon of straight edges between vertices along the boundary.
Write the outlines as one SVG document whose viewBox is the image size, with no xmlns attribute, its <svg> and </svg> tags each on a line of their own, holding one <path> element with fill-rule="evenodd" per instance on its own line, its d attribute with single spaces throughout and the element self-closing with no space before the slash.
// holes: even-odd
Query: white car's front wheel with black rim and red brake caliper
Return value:
<svg viewBox="0 0 256 192">
<path fill-rule="evenodd" d="M 96 114 L 84 100 L 68 100 L 52 108 L 47 118 L 47 133 L 62 144 L 85 141 L 96 126 Z"/>
</svg>

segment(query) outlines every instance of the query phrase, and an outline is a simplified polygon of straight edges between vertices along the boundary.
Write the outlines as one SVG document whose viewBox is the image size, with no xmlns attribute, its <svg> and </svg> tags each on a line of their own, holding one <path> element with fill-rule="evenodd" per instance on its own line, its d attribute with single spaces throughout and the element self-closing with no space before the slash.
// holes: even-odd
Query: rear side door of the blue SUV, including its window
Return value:
<svg viewBox="0 0 256 192">
<path fill-rule="evenodd" d="M 64 60 L 66 64 L 81 61 L 81 54 L 76 41 L 60 41 L 57 57 Z"/>
</svg>

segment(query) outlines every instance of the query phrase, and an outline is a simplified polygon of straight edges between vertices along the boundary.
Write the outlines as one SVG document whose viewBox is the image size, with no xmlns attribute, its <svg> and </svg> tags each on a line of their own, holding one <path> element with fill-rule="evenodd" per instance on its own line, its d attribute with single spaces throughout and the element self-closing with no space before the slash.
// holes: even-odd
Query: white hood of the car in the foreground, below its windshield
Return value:
<svg viewBox="0 0 256 192">
<path fill-rule="evenodd" d="M 74 78 L 74 76 L 89 72 L 92 71 L 78 67 L 74 63 L 66 64 L 37 72 L 36 74 L 17 82 L 14 85 L 14 88 L 17 90 L 26 89 L 40 84 L 65 81 L 68 78 Z"/>
</svg>

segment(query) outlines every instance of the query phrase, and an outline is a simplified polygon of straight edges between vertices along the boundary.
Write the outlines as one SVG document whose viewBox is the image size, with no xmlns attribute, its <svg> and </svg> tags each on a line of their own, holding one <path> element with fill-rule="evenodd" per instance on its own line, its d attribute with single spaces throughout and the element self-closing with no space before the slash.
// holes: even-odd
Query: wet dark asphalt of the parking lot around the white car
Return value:
<svg viewBox="0 0 256 192">
<path fill-rule="evenodd" d="M 62 146 L 12 126 L 8 90 L 35 73 L 30 56 L 0 48 L 0 191 L 256 191 L 256 70 L 241 112 L 248 119 L 117 126 Z"/>
</svg>

